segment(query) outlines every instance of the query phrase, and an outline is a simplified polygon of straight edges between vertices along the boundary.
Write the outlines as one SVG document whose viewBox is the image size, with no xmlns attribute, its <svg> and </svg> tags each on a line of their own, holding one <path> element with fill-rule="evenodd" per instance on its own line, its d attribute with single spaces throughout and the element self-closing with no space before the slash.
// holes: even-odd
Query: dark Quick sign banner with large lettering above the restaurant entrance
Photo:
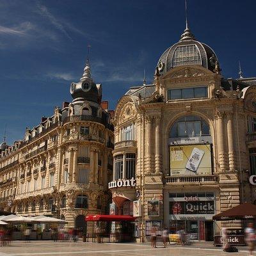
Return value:
<svg viewBox="0 0 256 256">
<path fill-rule="evenodd" d="M 170 202 L 170 214 L 214 214 L 214 201 Z"/>
</svg>

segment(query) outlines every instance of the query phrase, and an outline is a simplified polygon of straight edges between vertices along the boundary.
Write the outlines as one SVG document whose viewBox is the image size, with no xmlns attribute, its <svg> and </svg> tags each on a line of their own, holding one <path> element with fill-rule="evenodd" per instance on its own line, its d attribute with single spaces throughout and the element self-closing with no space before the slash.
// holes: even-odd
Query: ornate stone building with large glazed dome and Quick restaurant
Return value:
<svg viewBox="0 0 256 256">
<path fill-rule="evenodd" d="M 255 201 L 255 85 L 241 72 L 221 76 L 214 51 L 187 27 L 162 54 L 154 82 L 118 101 L 109 188 L 118 213 L 136 216 L 138 240 L 165 225 L 211 241 L 214 214 Z"/>
</svg>

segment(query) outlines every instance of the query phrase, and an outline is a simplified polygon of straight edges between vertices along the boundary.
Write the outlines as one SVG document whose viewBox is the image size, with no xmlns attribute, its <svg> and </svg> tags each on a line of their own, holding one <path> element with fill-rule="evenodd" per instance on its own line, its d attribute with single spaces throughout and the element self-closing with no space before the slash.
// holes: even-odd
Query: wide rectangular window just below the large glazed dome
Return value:
<svg viewBox="0 0 256 256">
<path fill-rule="evenodd" d="M 207 98 L 207 86 L 169 89 L 168 100 Z"/>
</svg>

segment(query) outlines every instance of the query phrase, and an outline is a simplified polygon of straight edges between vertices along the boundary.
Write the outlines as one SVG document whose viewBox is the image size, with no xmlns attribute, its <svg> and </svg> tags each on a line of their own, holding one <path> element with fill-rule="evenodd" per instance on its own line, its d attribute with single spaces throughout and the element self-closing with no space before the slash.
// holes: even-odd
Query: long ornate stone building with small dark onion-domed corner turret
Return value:
<svg viewBox="0 0 256 256">
<path fill-rule="evenodd" d="M 72 83 L 72 103 L 55 108 L 25 138 L 0 148 L 0 211 L 49 215 L 85 227 L 84 216 L 108 212 L 113 125 L 102 85 L 89 63 Z"/>
</svg>

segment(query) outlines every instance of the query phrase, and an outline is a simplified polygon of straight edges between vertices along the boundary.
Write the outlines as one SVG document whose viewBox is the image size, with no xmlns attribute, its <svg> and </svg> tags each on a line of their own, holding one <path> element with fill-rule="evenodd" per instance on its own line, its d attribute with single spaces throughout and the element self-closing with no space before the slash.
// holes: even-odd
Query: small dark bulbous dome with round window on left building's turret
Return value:
<svg viewBox="0 0 256 256">
<path fill-rule="evenodd" d="M 99 103 L 99 90 L 91 77 L 91 70 L 88 61 L 84 67 L 84 73 L 80 81 L 78 83 L 71 83 L 70 93 L 74 99 L 73 102 L 88 100 Z"/>
</svg>

